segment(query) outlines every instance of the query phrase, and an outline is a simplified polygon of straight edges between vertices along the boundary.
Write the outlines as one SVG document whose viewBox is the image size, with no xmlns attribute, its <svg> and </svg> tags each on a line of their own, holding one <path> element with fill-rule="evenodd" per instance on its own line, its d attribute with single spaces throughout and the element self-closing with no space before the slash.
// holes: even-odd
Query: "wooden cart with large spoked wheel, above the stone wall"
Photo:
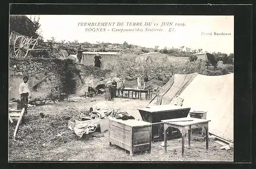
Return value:
<svg viewBox="0 0 256 169">
<path fill-rule="evenodd" d="M 13 52 L 16 57 L 25 58 L 29 51 L 34 49 L 38 38 L 34 39 L 11 30 L 9 38 L 10 49 L 13 48 Z"/>
</svg>

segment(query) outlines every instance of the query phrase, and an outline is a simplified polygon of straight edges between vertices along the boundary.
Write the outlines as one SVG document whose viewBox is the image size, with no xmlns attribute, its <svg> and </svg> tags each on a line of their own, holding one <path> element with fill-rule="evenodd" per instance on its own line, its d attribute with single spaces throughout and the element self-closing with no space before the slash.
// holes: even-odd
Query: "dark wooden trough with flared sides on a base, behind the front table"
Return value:
<svg viewBox="0 0 256 169">
<path fill-rule="evenodd" d="M 138 110 L 143 121 L 152 123 L 152 139 L 158 141 L 163 140 L 164 135 L 161 120 L 187 117 L 190 108 L 176 105 L 154 105 Z M 167 136 L 176 136 L 175 133 L 179 133 L 179 131 L 169 128 Z"/>
</svg>

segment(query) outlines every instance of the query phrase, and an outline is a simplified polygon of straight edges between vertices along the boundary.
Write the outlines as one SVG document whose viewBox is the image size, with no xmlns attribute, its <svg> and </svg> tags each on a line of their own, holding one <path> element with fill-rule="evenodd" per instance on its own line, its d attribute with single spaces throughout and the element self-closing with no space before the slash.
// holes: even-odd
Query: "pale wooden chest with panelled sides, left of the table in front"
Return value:
<svg viewBox="0 0 256 169">
<path fill-rule="evenodd" d="M 109 141 L 111 144 L 130 151 L 132 156 L 135 152 L 147 150 L 151 153 L 152 124 L 136 119 L 110 118 Z"/>
</svg>

